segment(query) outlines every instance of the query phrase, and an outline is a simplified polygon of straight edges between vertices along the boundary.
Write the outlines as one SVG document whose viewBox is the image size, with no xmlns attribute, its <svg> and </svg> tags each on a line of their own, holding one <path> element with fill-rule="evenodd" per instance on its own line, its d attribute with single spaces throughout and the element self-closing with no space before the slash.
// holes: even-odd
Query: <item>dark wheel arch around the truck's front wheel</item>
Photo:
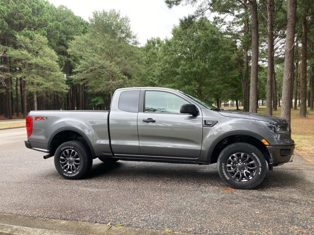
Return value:
<svg viewBox="0 0 314 235">
<path fill-rule="evenodd" d="M 269 151 L 267 150 L 266 145 L 262 143 L 262 139 L 264 139 L 262 136 L 250 131 L 231 131 L 225 133 L 219 136 L 210 145 L 209 152 L 207 155 L 207 162 L 210 164 L 216 163 L 220 152 L 227 145 L 235 142 L 247 142 L 261 150 L 268 164 L 272 163 Z"/>
</svg>

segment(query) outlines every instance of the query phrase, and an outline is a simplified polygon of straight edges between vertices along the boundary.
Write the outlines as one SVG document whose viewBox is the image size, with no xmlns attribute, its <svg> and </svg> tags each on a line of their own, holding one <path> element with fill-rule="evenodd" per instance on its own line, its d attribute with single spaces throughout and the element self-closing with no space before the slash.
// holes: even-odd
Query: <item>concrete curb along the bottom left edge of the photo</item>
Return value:
<svg viewBox="0 0 314 235">
<path fill-rule="evenodd" d="M 0 214 L 0 235 L 187 235 L 161 230 Z"/>
</svg>

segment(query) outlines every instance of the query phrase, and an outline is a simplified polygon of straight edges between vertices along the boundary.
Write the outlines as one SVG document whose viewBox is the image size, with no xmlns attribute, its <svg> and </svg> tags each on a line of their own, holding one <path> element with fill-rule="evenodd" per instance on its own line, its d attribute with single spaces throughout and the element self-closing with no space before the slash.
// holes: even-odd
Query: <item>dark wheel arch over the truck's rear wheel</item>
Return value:
<svg viewBox="0 0 314 235">
<path fill-rule="evenodd" d="M 90 152 L 91 152 L 93 158 L 95 159 L 96 155 L 95 155 L 92 143 L 89 141 L 88 137 L 81 130 L 79 130 L 77 128 L 74 128 L 74 127 L 62 127 L 62 128 L 60 128 L 60 129 L 58 129 L 58 130 L 56 130 L 55 132 L 52 133 L 52 135 L 51 135 L 51 137 L 50 137 L 50 139 L 48 141 L 49 153 L 50 154 L 54 154 L 56 148 L 58 147 L 58 146 L 55 146 L 55 143 L 57 143 L 57 145 L 60 145 L 63 142 L 73 140 L 71 138 L 70 139 L 64 138 L 63 141 L 56 141 L 56 138 L 58 136 L 60 136 L 61 134 L 67 135 L 67 134 L 69 134 L 71 132 L 72 133 L 76 133 L 79 136 L 81 136 L 81 138 L 79 138 L 79 139 L 83 139 L 83 141 L 85 141 L 85 143 L 87 144 L 87 146 L 90 149 Z"/>
</svg>

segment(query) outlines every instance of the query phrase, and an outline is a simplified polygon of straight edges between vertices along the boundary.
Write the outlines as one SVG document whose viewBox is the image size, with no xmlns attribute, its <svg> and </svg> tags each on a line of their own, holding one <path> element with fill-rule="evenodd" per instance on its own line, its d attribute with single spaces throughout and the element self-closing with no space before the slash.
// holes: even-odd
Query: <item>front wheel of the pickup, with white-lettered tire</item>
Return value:
<svg viewBox="0 0 314 235">
<path fill-rule="evenodd" d="M 219 154 L 220 178 L 230 187 L 255 188 L 265 178 L 267 164 L 262 152 L 249 143 L 232 143 Z"/>
</svg>

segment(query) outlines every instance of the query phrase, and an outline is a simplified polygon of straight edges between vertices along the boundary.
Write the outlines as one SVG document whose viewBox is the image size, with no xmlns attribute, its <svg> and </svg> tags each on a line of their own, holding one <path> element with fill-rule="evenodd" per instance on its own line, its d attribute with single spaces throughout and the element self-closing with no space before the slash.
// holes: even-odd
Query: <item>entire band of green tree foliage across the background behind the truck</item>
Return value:
<svg viewBox="0 0 314 235">
<path fill-rule="evenodd" d="M 78 100 L 86 102 L 82 105 L 85 108 L 89 104 L 93 108 L 108 107 L 115 89 L 131 86 L 172 87 L 209 102 L 217 98 L 241 100 L 241 82 L 250 69 L 249 2 L 165 0 L 165 3 L 168 7 L 194 4 L 196 11 L 174 26 L 171 39 L 151 38 L 139 47 L 129 18 L 118 11 L 96 11 L 88 23 L 67 7 L 55 7 L 46 0 L 0 0 L 0 94 L 6 94 L 5 81 L 12 78 L 10 91 L 13 98 L 18 98 L 19 92 L 13 89 L 15 79 L 23 77 L 28 101 L 34 92 L 50 94 L 48 99 L 67 92 L 67 102 L 75 103 L 70 108 L 80 106 Z M 314 0 L 300 0 L 297 7 L 297 43 L 301 21 L 307 20 L 308 73 L 314 65 L 313 3 Z M 279 97 L 286 5 L 287 1 L 274 0 L 274 59 Z M 258 96 L 265 99 L 267 1 L 259 0 L 258 9 Z M 207 12 L 215 13 L 213 20 L 206 18 Z M 296 53 L 296 63 L 300 61 L 300 52 Z M 244 61 L 245 53 L 248 57 Z"/>
</svg>

